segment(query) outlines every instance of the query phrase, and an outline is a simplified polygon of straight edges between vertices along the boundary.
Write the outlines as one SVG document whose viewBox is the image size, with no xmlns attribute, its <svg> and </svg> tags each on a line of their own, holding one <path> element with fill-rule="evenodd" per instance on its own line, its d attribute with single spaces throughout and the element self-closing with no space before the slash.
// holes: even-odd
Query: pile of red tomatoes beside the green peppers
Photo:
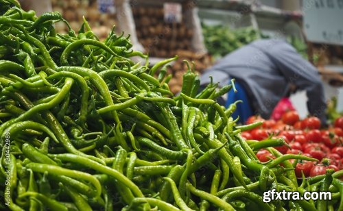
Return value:
<svg viewBox="0 0 343 211">
<path fill-rule="evenodd" d="M 273 137 L 282 137 L 289 145 L 275 147 L 281 153 L 302 154 L 316 158 L 320 162 L 298 160 L 296 176 L 314 177 L 322 175 L 326 169 L 343 169 L 343 116 L 336 119 L 334 124 L 321 129 L 320 120 L 310 116 L 300 120 L 298 112 L 289 111 L 283 114 L 280 121 L 264 120 L 260 116 L 251 116 L 247 124 L 263 121 L 261 127 L 242 132 L 247 140 L 263 140 L 271 134 Z M 275 157 L 266 149 L 257 152 L 261 162 L 267 162 Z M 291 160 L 293 162 L 293 160 Z"/>
</svg>

